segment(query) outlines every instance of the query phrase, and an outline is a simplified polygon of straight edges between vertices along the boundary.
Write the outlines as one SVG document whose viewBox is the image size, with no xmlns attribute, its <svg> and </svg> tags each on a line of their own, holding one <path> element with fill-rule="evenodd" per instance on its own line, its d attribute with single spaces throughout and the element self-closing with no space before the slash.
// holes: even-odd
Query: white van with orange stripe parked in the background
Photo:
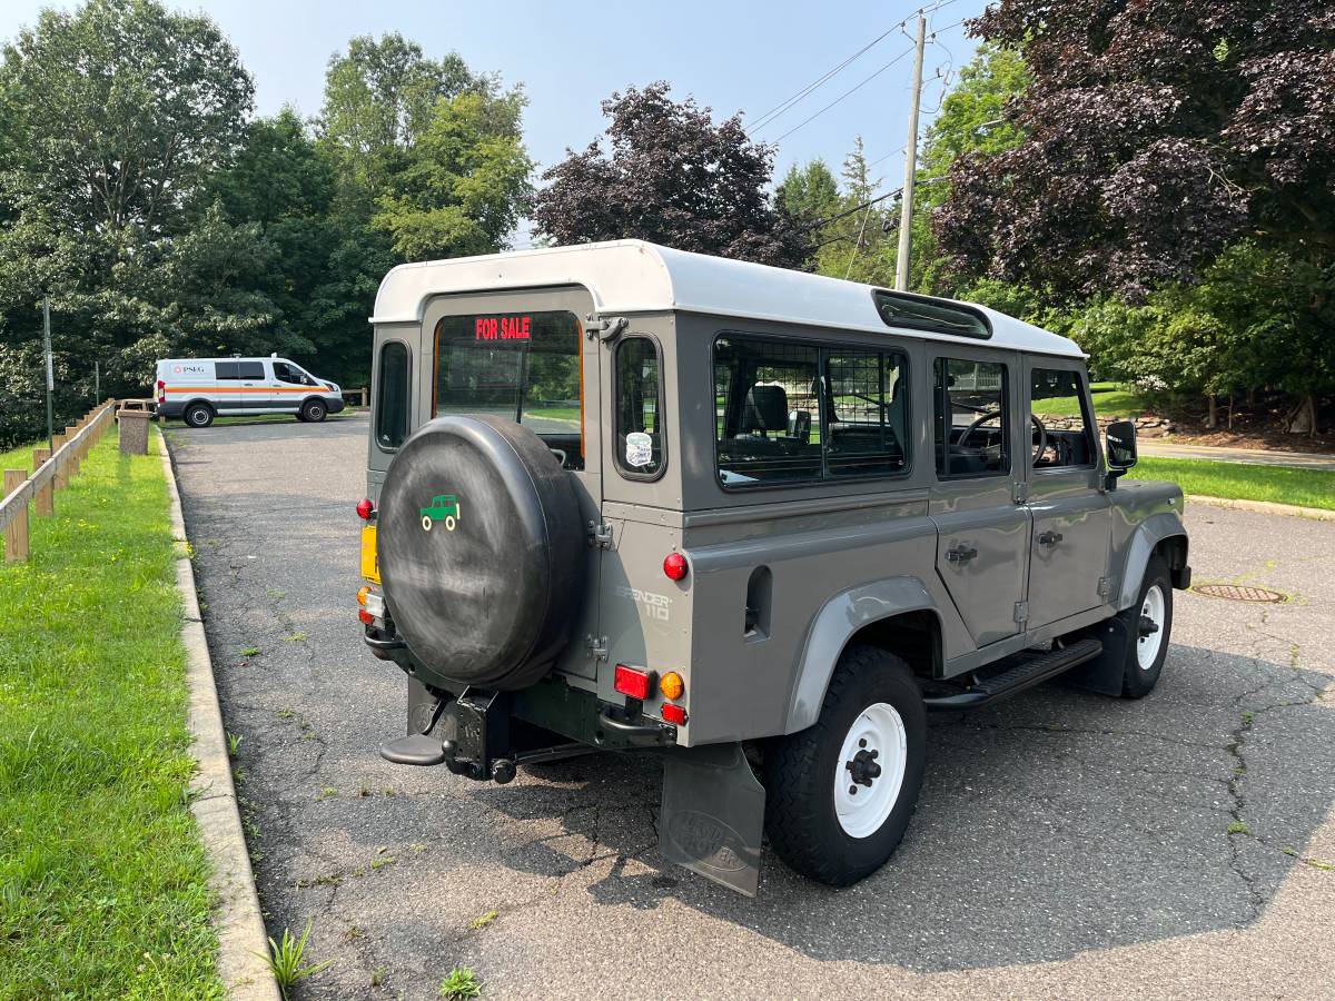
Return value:
<svg viewBox="0 0 1335 1001">
<path fill-rule="evenodd" d="M 155 376 L 158 412 L 208 427 L 231 414 L 295 414 L 323 420 L 343 410 L 336 383 L 316 379 L 286 358 L 168 358 Z"/>
</svg>

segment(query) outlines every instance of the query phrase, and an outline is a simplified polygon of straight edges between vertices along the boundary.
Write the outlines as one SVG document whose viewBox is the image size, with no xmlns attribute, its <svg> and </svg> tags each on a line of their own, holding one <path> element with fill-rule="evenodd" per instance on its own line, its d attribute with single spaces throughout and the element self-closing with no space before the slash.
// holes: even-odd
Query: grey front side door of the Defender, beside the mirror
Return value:
<svg viewBox="0 0 1335 1001">
<path fill-rule="evenodd" d="M 1112 509 L 1099 488 L 1099 452 L 1084 366 L 1025 360 L 1027 406 L 1043 424 L 1043 450 L 1029 452 L 1029 625 L 1097 607 L 1108 587 Z"/>
</svg>

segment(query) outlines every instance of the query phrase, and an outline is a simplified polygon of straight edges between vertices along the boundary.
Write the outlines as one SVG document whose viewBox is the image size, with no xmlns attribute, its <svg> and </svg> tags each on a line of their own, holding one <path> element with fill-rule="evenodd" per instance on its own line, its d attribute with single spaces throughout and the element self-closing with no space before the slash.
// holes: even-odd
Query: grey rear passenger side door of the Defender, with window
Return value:
<svg viewBox="0 0 1335 1001">
<path fill-rule="evenodd" d="M 1028 575 L 1019 362 L 965 346 L 932 358 L 936 569 L 980 647 L 1020 630 Z"/>
</svg>

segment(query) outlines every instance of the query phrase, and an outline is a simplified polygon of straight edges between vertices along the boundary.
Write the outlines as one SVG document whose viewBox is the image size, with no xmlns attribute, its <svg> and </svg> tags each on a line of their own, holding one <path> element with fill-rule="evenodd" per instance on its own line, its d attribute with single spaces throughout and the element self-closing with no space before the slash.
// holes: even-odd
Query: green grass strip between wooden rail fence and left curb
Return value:
<svg viewBox="0 0 1335 1001">
<path fill-rule="evenodd" d="M 223 996 L 156 454 L 108 435 L 0 566 L 0 997 Z"/>
</svg>

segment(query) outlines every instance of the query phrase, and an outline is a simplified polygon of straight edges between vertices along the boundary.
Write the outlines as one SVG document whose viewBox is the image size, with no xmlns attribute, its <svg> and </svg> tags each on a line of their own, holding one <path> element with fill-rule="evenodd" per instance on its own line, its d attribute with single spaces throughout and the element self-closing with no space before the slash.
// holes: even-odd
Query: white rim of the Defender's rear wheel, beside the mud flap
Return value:
<svg viewBox="0 0 1335 1001">
<path fill-rule="evenodd" d="M 845 834 L 866 838 L 881 829 L 898 802 L 908 758 L 908 733 L 898 710 L 888 702 L 864 709 L 834 766 L 834 815 Z M 874 778 L 866 774 L 868 763 L 880 767 Z"/>
</svg>

